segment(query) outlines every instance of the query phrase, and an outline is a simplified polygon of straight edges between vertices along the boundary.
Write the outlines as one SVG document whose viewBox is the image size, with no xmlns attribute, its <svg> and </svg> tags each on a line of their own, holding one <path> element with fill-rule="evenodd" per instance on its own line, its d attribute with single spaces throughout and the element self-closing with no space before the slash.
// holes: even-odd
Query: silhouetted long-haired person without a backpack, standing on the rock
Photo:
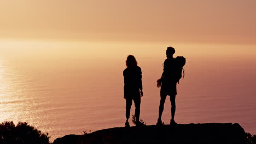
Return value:
<svg viewBox="0 0 256 144">
<path fill-rule="evenodd" d="M 132 100 L 135 104 L 135 117 L 136 126 L 144 125 L 139 122 L 139 113 L 141 107 L 141 97 L 143 96 L 142 91 L 142 72 L 141 68 L 138 67 L 137 61 L 134 56 L 129 55 L 126 60 L 127 68 L 124 70 L 124 98 L 126 100 L 126 123 L 125 127 L 130 127 L 129 118 Z"/>
</svg>

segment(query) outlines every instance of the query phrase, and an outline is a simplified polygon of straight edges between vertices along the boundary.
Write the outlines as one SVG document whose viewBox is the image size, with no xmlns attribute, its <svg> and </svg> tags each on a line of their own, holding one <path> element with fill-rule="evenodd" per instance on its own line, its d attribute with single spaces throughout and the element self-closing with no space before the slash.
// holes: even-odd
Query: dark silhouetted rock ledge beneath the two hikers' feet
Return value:
<svg viewBox="0 0 256 144">
<path fill-rule="evenodd" d="M 86 135 L 66 135 L 54 144 L 66 143 L 246 143 L 243 128 L 235 123 L 149 125 L 111 128 Z"/>
</svg>

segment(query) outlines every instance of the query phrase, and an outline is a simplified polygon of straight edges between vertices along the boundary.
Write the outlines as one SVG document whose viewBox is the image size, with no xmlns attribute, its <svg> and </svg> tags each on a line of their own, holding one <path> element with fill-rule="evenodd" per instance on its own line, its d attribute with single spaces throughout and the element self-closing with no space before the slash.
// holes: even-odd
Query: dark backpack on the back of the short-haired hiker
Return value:
<svg viewBox="0 0 256 144">
<path fill-rule="evenodd" d="M 185 63 L 186 63 L 186 58 L 183 56 L 178 56 L 175 58 L 175 63 L 176 63 L 176 81 L 179 83 L 179 80 L 182 78 L 182 70 L 183 70 L 183 79 L 185 76 L 185 70 L 183 69 Z"/>
</svg>

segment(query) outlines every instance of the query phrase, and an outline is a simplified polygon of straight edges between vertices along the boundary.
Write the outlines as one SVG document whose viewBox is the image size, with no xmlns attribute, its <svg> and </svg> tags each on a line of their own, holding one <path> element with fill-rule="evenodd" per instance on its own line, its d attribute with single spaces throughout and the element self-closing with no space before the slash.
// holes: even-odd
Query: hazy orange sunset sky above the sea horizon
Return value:
<svg viewBox="0 0 256 144">
<path fill-rule="evenodd" d="M 256 42 L 256 1 L 0 1 L 0 39 Z"/>
</svg>

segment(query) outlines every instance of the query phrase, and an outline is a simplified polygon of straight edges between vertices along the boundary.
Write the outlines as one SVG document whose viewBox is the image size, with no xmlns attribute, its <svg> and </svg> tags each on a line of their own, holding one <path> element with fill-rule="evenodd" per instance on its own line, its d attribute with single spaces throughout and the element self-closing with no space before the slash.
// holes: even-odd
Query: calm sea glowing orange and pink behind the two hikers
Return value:
<svg viewBox="0 0 256 144">
<path fill-rule="evenodd" d="M 123 70 L 135 55 L 143 73 L 141 118 L 158 118 L 165 44 L 0 43 L 0 122 L 28 122 L 51 141 L 123 127 Z M 256 134 L 255 46 L 173 45 L 187 58 L 177 87 L 177 123 L 239 123 Z M 171 118 L 166 100 L 162 121 Z M 134 113 L 134 105 L 131 114 Z M 131 119 L 130 119 L 131 123 Z"/>
</svg>

